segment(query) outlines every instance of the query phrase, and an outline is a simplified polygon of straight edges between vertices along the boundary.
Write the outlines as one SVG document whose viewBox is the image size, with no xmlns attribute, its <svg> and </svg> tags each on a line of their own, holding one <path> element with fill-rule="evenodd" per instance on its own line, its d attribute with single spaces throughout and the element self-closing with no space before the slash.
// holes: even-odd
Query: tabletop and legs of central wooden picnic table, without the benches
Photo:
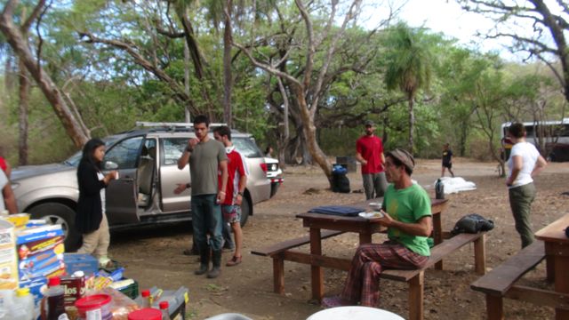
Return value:
<svg viewBox="0 0 569 320">
<path fill-rule="evenodd" d="M 371 202 L 378 202 L 380 199 L 373 199 L 357 204 L 350 204 L 354 207 L 368 208 Z M 448 204 L 447 199 L 431 199 L 431 212 L 433 214 L 433 238 L 435 244 L 443 242 L 443 229 L 441 213 Z M 321 231 L 337 230 L 341 232 L 355 232 L 359 234 L 359 244 L 372 243 L 372 235 L 382 232 L 386 228 L 377 221 L 367 220 L 362 217 L 345 217 L 331 214 L 305 212 L 296 215 L 302 219 L 302 226 L 309 228 L 310 254 L 301 252 L 287 252 L 287 260 L 294 260 L 301 263 L 310 264 L 310 274 L 312 282 L 312 299 L 322 300 L 324 297 L 324 272 L 325 268 L 340 268 L 349 270 L 350 260 L 328 257 L 322 254 L 322 235 Z M 443 268 L 443 261 L 436 264 L 436 268 Z"/>
</svg>

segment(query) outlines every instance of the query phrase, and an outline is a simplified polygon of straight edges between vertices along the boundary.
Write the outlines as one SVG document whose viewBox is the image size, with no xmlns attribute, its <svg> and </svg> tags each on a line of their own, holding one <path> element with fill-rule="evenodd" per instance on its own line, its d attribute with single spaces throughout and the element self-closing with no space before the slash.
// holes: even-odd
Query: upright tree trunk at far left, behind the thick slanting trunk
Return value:
<svg viewBox="0 0 569 320">
<path fill-rule="evenodd" d="M 28 164 L 28 102 L 29 79 L 26 67 L 19 63 L 20 68 L 20 115 L 18 116 L 18 164 Z"/>
</svg>

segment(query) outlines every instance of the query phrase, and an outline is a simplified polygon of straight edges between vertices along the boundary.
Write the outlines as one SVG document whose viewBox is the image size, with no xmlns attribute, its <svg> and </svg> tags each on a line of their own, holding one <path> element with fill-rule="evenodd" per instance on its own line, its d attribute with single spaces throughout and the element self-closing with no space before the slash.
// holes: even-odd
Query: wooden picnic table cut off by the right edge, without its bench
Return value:
<svg viewBox="0 0 569 320">
<path fill-rule="evenodd" d="M 535 233 L 535 237 L 545 244 L 548 279 L 555 282 L 555 291 L 569 293 L 569 238 L 565 228 L 569 227 L 569 213 L 555 220 Z M 551 279 L 553 277 L 553 279 Z M 569 310 L 556 308 L 556 319 L 569 319 Z"/>
</svg>

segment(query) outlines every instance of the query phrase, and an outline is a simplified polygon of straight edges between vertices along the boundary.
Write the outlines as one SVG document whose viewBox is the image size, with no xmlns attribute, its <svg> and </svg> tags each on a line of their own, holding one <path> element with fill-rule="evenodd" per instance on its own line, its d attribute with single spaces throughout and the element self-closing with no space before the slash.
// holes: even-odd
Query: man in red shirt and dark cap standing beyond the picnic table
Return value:
<svg viewBox="0 0 569 320">
<path fill-rule="evenodd" d="M 383 143 L 381 138 L 373 134 L 375 124 L 365 121 L 365 135 L 356 142 L 356 159 L 362 164 L 362 180 L 364 180 L 365 199 L 383 196 L 388 188 L 383 164 Z"/>
</svg>

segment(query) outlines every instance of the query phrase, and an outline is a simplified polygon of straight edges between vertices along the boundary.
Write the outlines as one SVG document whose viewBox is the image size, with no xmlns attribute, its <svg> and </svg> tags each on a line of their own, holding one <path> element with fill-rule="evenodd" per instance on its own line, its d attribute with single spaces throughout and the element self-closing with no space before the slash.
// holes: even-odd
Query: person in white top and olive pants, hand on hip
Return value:
<svg viewBox="0 0 569 320">
<path fill-rule="evenodd" d="M 535 186 L 533 177 L 545 166 L 547 161 L 533 144 L 525 141 L 524 124 L 512 124 L 508 129 L 509 139 L 514 147 L 509 155 L 509 174 L 506 180 L 509 193 L 509 206 L 516 222 L 516 231 L 521 237 L 522 248 L 533 243 L 533 231 L 530 221 Z"/>
</svg>

